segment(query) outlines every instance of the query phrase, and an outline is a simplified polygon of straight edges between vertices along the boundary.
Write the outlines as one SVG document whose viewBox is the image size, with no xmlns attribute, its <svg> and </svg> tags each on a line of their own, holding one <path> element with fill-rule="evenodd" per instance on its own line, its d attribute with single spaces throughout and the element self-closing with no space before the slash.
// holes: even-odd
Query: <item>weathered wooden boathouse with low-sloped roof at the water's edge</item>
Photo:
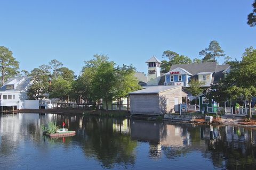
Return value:
<svg viewBox="0 0 256 170">
<path fill-rule="evenodd" d="M 178 112 L 182 97 L 187 94 L 182 86 L 153 86 L 130 92 L 131 114 L 161 115 Z M 185 100 L 186 101 L 186 100 Z"/>
</svg>

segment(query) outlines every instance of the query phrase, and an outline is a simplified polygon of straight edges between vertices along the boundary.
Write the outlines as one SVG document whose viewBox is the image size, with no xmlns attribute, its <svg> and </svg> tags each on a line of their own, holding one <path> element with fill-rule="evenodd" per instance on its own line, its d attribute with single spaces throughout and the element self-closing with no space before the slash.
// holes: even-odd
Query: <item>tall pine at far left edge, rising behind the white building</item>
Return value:
<svg viewBox="0 0 256 170">
<path fill-rule="evenodd" d="M 12 56 L 11 50 L 4 46 L 0 46 L 0 72 L 1 72 L 1 86 L 4 82 L 17 75 L 19 69 L 19 62 Z"/>
</svg>

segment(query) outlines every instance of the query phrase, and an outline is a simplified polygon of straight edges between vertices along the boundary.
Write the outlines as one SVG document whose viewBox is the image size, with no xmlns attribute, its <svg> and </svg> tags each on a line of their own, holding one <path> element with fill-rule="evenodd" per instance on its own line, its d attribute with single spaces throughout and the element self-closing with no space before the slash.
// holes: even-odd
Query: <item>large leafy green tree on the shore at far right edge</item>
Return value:
<svg viewBox="0 0 256 170">
<path fill-rule="evenodd" d="M 246 48 L 242 61 L 232 67 L 226 77 L 229 83 L 227 92 L 232 99 L 243 98 L 249 101 L 249 117 L 252 97 L 256 96 L 256 49 Z"/>
</svg>

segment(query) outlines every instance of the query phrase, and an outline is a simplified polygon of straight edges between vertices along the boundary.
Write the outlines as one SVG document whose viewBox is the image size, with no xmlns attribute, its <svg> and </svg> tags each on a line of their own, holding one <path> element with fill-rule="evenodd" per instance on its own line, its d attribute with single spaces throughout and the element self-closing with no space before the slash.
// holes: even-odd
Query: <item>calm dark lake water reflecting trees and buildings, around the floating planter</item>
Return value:
<svg viewBox="0 0 256 170">
<path fill-rule="evenodd" d="M 63 121 L 74 137 L 42 135 Z M 0 116 L 0 169 L 253 169 L 256 130 L 129 119 Z"/>
</svg>

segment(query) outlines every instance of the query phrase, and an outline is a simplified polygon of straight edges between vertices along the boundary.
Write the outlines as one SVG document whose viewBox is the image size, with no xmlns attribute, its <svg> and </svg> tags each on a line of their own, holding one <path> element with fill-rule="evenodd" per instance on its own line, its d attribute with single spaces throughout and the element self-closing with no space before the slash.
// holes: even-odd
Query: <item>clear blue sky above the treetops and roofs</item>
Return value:
<svg viewBox="0 0 256 170">
<path fill-rule="evenodd" d="M 1 1 L 0 46 L 12 50 L 20 70 L 53 59 L 76 74 L 93 54 L 147 72 L 165 50 L 191 59 L 217 40 L 241 60 L 256 48 L 256 27 L 246 24 L 253 0 L 237 1 Z M 219 60 L 222 63 L 223 60 Z"/>
</svg>

